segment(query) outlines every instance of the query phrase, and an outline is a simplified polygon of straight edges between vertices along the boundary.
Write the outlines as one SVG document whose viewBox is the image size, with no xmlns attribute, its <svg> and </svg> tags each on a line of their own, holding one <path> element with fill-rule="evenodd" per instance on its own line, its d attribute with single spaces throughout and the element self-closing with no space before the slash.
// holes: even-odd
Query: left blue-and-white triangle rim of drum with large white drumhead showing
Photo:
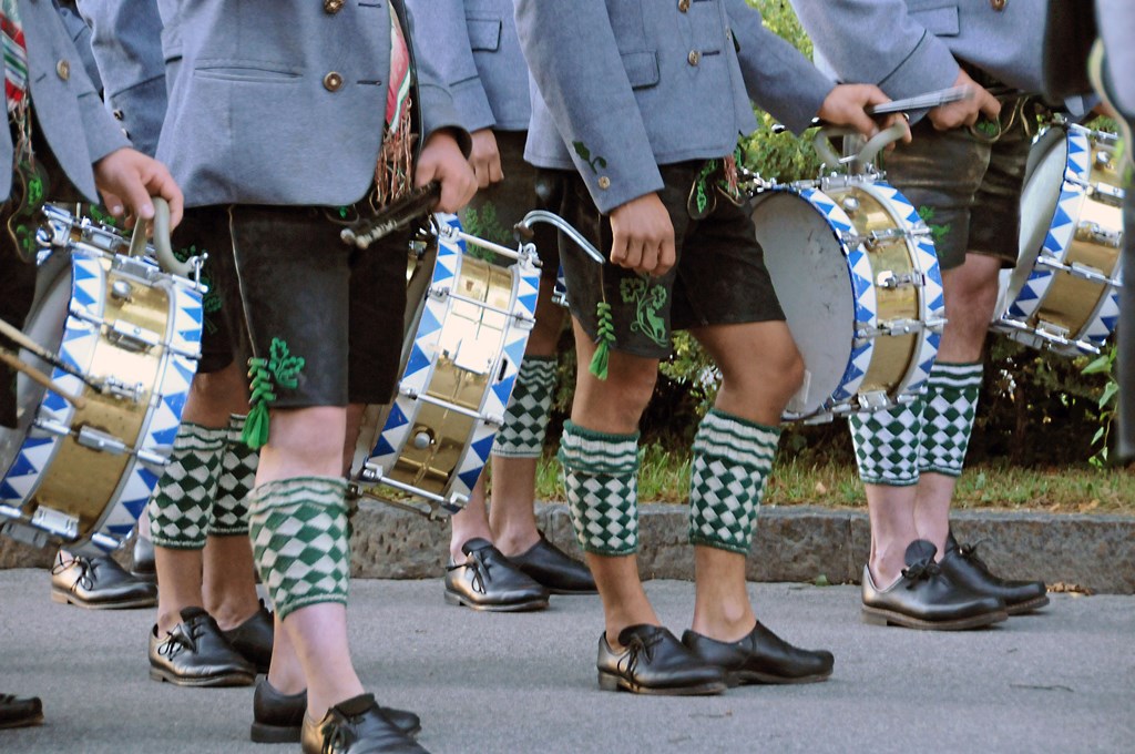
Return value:
<svg viewBox="0 0 1135 754">
<path fill-rule="evenodd" d="M 855 234 L 855 226 L 847 212 L 826 193 L 817 188 L 805 188 L 800 195 L 806 199 L 824 217 L 840 242 L 848 265 L 848 283 L 855 299 L 855 325 L 874 328 L 878 326 L 878 299 L 872 282 L 871 261 L 861 245 L 849 249 L 844 240 Z M 856 338 L 851 353 L 844 367 L 839 387 L 829 399 L 829 405 L 850 400 L 858 392 L 863 378 L 867 375 L 871 360 L 875 353 L 875 342 L 871 338 Z"/>
</svg>

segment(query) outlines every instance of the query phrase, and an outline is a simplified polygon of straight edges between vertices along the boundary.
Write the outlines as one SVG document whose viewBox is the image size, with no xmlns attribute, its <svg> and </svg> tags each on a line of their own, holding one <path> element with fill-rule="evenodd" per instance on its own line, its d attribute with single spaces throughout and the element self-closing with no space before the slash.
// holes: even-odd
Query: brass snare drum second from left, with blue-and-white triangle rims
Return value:
<svg viewBox="0 0 1135 754">
<path fill-rule="evenodd" d="M 411 248 L 407 337 L 394 403 L 369 407 L 355 453 L 359 492 L 437 518 L 469 500 L 504 421 L 536 321 L 539 261 L 469 236 L 455 216 Z M 504 267 L 469 244 L 511 258 Z M 387 487 L 401 493 L 382 495 Z"/>
</svg>

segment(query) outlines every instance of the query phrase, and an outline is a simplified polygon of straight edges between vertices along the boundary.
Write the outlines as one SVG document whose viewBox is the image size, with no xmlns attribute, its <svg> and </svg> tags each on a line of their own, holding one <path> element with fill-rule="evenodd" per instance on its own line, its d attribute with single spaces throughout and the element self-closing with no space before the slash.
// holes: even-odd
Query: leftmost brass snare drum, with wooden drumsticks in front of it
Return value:
<svg viewBox="0 0 1135 754">
<path fill-rule="evenodd" d="M 129 242 L 112 228 L 43 211 L 52 252 L 25 334 L 70 370 L 20 358 L 86 405 L 19 375 L 19 426 L 0 428 L 0 531 L 100 554 L 129 534 L 168 461 L 200 357 L 202 288 L 119 253 Z"/>
</svg>

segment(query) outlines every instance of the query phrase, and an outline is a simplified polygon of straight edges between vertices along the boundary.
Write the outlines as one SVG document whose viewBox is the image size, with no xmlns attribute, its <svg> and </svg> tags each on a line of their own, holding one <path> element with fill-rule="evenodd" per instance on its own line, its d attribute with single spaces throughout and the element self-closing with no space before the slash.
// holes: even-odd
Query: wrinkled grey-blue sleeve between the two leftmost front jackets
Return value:
<svg viewBox="0 0 1135 754">
<path fill-rule="evenodd" d="M 151 157 L 166 118 L 166 64 L 157 0 L 79 0 L 107 109 L 137 149 Z"/>
</svg>

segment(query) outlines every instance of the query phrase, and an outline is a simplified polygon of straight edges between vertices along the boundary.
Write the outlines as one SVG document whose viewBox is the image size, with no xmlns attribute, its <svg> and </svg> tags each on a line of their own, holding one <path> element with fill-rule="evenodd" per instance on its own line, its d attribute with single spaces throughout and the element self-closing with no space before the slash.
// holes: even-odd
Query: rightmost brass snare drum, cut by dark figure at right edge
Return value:
<svg viewBox="0 0 1135 754">
<path fill-rule="evenodd" d="M 992 329 L 1065 355 L 1099 353 L 1119 317 L 1124 190 L 1117 140 L 1078 125 L 1029 154 L 1017 267 L 1001 274 Z"/>
</svg>

